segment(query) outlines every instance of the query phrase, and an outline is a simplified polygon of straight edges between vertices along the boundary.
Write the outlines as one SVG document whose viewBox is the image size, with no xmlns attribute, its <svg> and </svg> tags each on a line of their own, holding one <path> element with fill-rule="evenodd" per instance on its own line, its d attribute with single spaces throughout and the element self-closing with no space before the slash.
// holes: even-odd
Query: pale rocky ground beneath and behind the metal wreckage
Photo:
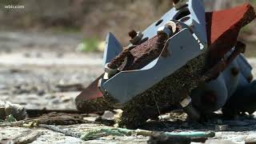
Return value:
<svg viewBox="0 0 256 144">
<path fill-rule="evenodd" d="M 18 103 L 30 110 L 75 110 L 75 96 L 102 73 L 102 54 L 82 54 L 76 51 L 81 39 L 79 34 L 0 32 L 0 100 Z M 249 58 L 249 62 L 256 68 L 256 58 Z M 84 143 L 78 138 L 81 134 L 91 130 L 112 129 L 94 122 L 99 115 L 83 114 L 82 119 L 90 122 L 54 126 L 61 130 L 59 132 L 44 126 L 30 128 L 0 125 L 0 139 L 9 138 L 25 143 Z M 215 137 L 211 138 L 215 142 L 256 142 L 256 120 L 253 117 L 237 118 L 234 121 L 216 119 L 200 125 L 181 122 L 173 114 L 163 115 L 162 118 L 169 121 L 149 122 L 142 128 L 176 133 L 210 130 L 215 131 Z M 228 130 L 215 130 L 215 126 L 226 124 L 230 126 Z M 74 132 L 78 136 L 67 136 L 62 134 L 63 131 Z M 105 134 L 91 138 L 86 143 L 146 143 L 149 138 L 146 134 L 138 133 L 118 136 Z"/>
</svg>

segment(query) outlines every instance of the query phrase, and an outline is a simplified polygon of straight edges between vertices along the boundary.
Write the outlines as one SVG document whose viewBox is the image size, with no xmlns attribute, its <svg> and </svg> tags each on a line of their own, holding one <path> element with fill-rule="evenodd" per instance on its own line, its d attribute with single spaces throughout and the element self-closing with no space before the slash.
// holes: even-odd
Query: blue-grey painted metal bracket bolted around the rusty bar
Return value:
<svg viewBox="0 0 256 144">
<path fill-rule="evenodd" d="M 204 6 L 200 0 L 189 0 L 187 4 L 188 6 L 181 10 L 171 9 L 159 19 L 162 21 L 161 23 L 154 22 L 142 32 L 143 38 L 153 38 L 157 34 L 158 28 L 165 26 L 166 22 L 170 22 L 170 20 L 182 24 L 183 30 L 179 31 L 178 34 L 174 34 L 166 42 L 167 49 L 171 55 L 167 58 L 163 58 L 160 55 L 141 70 L 121 71 L 107 81 L 102 80 L 99 83 L 102 93 L 110 94 L 118 102 L 128 102 L 134 96 L 160 82 L 162 78 L 173 74 L 174 71 L 184 66 L 186 62 L 206 51 L 207 37 Z M 184 17 L 182 18 L 181 15 L 184 15 Z M 159 23 L 158 26 L 156 25 L 157 23 Z M 191 30 L 194 33 L 191 33 Z M 116 44 L 117 40 L 115 38 L 108 39 L 103 64 L 110 62 L 110 59 L 114 58 L 115 54 L 119 52 L 118 47 L 120 46 Z M 110 39 L 115 44 L 110 44 Z M 185 40 L 186 42 L 184 42 Z M 113 45 L 117 47 L 114 49 L 117 53 L 110 50 Z"/>
</svg>

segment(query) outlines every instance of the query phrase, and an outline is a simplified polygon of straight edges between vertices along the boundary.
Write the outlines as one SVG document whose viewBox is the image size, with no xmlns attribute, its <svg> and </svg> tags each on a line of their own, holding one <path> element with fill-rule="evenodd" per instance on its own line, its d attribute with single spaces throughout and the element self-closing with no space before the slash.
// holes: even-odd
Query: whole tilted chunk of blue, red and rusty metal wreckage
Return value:
<svg viewBox="0 0 256 144">
<path fill-rule="evenodd" d="M 236 113 L 256 110 L 246 45 L 237 41 L 254 18 L 249 4 L 206 13 L 201 1 L 181 0 L 146 30 L 130 31 L 124 49 L 108 34 L 105 73 L 75 99 L 78 110 L 122 108 L 119 126 L 136 128 L 178 107 L 195 120 L 223 106 L 230 115 L 242 90 L 251 91 L 243 98 L 251 106 L 240 103 Z"/>
</svg>

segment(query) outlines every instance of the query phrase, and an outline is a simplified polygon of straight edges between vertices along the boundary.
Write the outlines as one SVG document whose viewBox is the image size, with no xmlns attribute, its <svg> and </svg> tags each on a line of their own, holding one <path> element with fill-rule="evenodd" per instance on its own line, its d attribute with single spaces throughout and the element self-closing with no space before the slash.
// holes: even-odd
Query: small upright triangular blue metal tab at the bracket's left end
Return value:
<svg viewBox="0 0 256 144">
<path fill-rule="evenodd" d="M 106 46 L 103 55 L 103 68 L 107 62 L 110 62 L 115 56 L 122 52 L 122 45 L 118 42 L 114 34 L 109 33 L 106 36 Z"/>
</svg>

